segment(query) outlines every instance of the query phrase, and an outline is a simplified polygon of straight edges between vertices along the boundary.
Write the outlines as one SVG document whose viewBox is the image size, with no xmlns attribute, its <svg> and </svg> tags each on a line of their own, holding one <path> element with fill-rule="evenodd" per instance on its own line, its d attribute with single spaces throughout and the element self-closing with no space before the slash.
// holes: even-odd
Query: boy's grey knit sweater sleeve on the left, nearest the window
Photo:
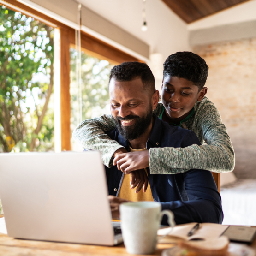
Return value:
<svg viewBox="0 0 256 256">
<path fill-rule="evenodd" d="M 154 113 L 159 116 L 162 103 L 159 102 Z M 83 149 L 98 150 L 101 159 L 108 168 L 113 166 L 113 155 L 117 149 L 124 148 L 115 140 L 105 134 L 116 127 L 111 115 L 102 115 L 94 119 L 84 120 L 73 131 L 72 138 L 77 141 Z"/>
</svg>

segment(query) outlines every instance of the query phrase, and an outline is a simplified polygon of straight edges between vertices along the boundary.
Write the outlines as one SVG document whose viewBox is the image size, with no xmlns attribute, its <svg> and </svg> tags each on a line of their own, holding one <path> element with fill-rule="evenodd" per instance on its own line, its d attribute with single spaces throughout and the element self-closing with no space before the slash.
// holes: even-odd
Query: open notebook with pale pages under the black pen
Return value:
<svg viewBox="0 0 256 256">
<path fill-rule="evenodd" d="M 214 238 L 219 238 L 223 232 L 228 228 L 228 226 L 214 223 L 202 223 L 200 228 L 196 230 L 195 234 L 188 236 L 188 232 L 196 225 L 196 222 L 178 225 L 173 227 L 167 227 L 159 229 L 157 235 L 166 235 L 166 237 L 161 238 L 160 243 L 176 243 L 177 240 L 183 239 L 189 240 L 211 240 Z"/>
</svg>

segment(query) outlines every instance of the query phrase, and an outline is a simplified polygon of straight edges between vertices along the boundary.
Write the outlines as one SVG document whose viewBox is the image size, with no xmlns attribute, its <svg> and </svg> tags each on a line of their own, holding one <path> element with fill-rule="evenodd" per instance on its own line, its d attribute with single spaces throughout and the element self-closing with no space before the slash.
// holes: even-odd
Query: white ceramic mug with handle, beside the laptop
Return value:
<svg viewBox="0 0 256 256">
<path fill-rule="evenodd" d="M 175 226 L 173 212 L 161 212 L 159 202 L 125 202 L 120 205 L 120 220 L 125 248 L 131 254 L 150 254 L 157 243 L 157 230 L 166 214 L 171 227 Z"/>
</svg>

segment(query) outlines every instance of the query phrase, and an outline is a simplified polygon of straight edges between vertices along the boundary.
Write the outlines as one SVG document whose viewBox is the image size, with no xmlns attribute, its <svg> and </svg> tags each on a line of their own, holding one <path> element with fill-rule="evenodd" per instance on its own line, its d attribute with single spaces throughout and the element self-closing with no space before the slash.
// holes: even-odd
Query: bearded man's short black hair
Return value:
<svg viewBox="0 0 256 256">
<path fill-rule="evenodd" d="M 140 77 L 145 89 L 155 92 L 155 78 L 149 66 L 138 61 L 127 61 L 114 66 L 110 72 L 109 82 L 112 78 L 119 82 L 131 81 Z"/>
</svg>

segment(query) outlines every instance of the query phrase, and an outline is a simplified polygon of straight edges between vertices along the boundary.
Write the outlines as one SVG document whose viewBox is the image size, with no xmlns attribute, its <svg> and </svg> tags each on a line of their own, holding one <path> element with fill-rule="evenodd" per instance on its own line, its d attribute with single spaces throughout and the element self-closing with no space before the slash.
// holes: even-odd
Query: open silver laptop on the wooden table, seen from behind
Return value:
<svg viewBox="0 0 256 256">
<path fill-rule="evenodd" d="M 99 152 L 0 154 L 0 199 L 11 237 L 119 244 L 107 195 Z"/>
</svg>

